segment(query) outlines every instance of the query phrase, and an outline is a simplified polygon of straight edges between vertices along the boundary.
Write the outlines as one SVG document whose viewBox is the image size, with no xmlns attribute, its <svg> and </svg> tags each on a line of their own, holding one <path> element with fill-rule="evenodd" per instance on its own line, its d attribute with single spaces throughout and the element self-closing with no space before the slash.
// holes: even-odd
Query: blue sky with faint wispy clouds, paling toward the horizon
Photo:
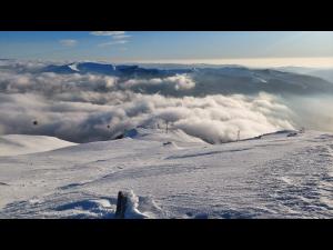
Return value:
<svg viewBox="0 0 333 250">
<path fill-rule="evenodd" d="M 111 62 L 316 60 L 333 58 L 333 32 L 0 31 L 0 54 L 12 59 Z"/>
</svg>

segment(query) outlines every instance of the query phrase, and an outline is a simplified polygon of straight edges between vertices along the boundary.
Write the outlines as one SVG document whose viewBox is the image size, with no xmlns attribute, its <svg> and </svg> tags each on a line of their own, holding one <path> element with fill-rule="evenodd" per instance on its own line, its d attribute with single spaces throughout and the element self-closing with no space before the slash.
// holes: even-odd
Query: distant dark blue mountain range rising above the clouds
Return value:
<svg viewBox="0 0 333 250">
<path fill-rule="evenodd" d="M 149 64 L 148 64 L 149 66 Z M 195 79 L 196 87 L 185 89 L 182 92 L 191 96 L 215 94 L 215 93 L 253 93 L 259 91 L 281 93 L 321 93 L 333 92 L 330 81 L 323 80 L 319 74 L 302 74 L 297 71 L 282 69 L 250 69 L 242 66 L 185 66 L 170 64 L 169 67 L 158 64 L 111 64 L 107 62 L 74 62 L 69 64 L 47 64 L 39 69 L 39 73 L 53 72 L 60 74 L 103 74 L 118 77 L 120 79 L 140 79 L 141 83 L 149 80 L 164 79 L 179 74 L 186 74 Z M 0 66 L 1 67 L 1 66 Z M 331 71 L 332 73 L 332 71 Z M 212 81 L 214 79 L 214 81 Z M 204 88 L 200 83 L 204 82 Z M 141 84 L 140 83 L 140 84 Z M 263 84 L 264 83 L 264 84 Z M 157 92 L 151 86 L 140 86 L 147 93 Z M 222 88 L 221 88 L 222 87 Z M 179 91 L 170 92 L 170 89 L 161 89 L 162 94 L 178 96 Z"/>
</svg>

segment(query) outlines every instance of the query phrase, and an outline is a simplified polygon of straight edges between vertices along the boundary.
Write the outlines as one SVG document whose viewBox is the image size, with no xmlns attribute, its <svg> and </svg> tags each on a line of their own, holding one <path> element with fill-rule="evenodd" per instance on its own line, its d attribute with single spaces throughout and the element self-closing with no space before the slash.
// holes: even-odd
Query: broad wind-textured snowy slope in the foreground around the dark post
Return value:
<svg viewBox="0 0 333 250">
<path fill-rule="evenodd" d="M 332 218 L 333 134 L 208 144 L 182 131 L 0 157 L 0 218 Z M 171 142 L 171 143 L 165 143 Z"/>
</svg>

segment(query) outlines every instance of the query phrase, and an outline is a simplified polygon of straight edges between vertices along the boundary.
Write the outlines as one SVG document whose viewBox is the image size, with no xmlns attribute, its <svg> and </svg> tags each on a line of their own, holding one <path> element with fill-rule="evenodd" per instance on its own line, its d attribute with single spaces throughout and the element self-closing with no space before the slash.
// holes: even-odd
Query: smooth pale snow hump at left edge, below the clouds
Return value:
<svg viewBox="0 0 333 250">
<path fill-rule="evenodd" d="M 43 152 L 74 144 L 54 137 L 7 134 L 0 136 L 0 157 Z"/>
</svg>

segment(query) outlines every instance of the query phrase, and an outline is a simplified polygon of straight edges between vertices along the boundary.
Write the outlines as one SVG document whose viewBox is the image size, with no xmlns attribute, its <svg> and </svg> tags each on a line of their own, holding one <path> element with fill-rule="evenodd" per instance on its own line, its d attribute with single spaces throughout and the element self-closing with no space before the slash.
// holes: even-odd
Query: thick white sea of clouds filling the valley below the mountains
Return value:
<svg viewBox="0 0 333 250">
<path fill-rule="evenodd" d="M 317 99 L 310 97 L 265 92 L 193 97 L 182 94 L 196 84 L 186 73 L 122 79 L 94 73 L 39 72 L 37 69 L 42 66 L 40 62 L 1 66 L 0 134 L 44 134 L 89 142 L 113 139 L 139 126 L 164 128 L 168 121 L 171 129 L 221 143 L 235 140 L 238 131 L 244 139 L 307 124 L 330 130 L 333 122 L 327 111 L 327 107 L 333 107 L 330 98 L 316 102 Z M 145 93 L 141 91 L 144 86 L 157 91 Z M 180 94 L 161 94 L 158 90 L 163 88 Z"/>
</svg>

